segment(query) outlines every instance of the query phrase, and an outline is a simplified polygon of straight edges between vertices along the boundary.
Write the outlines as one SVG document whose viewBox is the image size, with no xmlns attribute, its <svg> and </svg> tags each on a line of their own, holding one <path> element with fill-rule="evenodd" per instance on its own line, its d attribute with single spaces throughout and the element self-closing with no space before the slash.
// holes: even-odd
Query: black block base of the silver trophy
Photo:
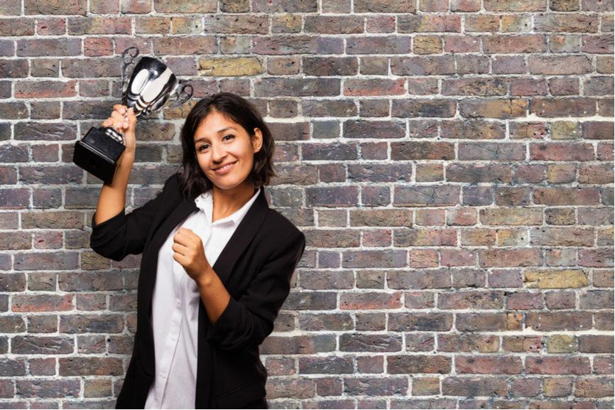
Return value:
<svg viewBox="0 0 615 410">
<path fill-rule="evenodd" d="M 104 183 L 110 184 L 113 181 L 117 160 L 126 146 L 109 136 L 106 130 L 119 135 L 114 129 L 93 126 L 81 141 L 75 143 L 72 162 L 102 179 Z"/>
</svg>

